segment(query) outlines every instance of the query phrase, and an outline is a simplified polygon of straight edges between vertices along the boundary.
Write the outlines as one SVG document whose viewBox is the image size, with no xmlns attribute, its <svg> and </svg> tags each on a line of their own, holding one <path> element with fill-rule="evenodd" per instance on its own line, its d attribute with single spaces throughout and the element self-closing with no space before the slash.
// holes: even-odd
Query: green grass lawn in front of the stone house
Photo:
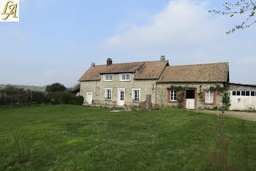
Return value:
<svg viewBox="0 0 256 171">
<path fill-rule="evenodd" d="M 1 107 L 0 170 L 211 170 L 216 121 L 216 115 L 178 109 Z M 228 168 L 256 170 L 256 122 L 225 121 Z M 12 132 L 31 146 L 23 164 L 10 148 Z"/>
</svg>

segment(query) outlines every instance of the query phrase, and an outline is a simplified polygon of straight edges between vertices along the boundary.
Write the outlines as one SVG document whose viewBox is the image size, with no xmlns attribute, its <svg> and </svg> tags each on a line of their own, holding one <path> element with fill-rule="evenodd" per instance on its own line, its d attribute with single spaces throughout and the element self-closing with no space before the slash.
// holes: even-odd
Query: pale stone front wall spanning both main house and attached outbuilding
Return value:
<svg viewBox="0 0 256 171">
<path fill-rule="evenodd" d="M 101 75 L 101 80 L 98 81 L 85 81 L 80 84 L 80 94 L 84 97 L 84 103 L 86 103 L 86 92 L 93 93 L 93 104 L 102 105 L 117 105 L 118 101 L 118 88 L 125 88 L 124 91 L 124 104 L 138 105 L 138 102 L 132 102 L 132 88 L 141 88 L 140 90 L 140 102 L 144 103 L 146 101 L 146 95 L 151 94 L 152 106 L 159 104 L 159 106 L 171 106 L 177 105 L 177 102 L 170 102 L 168 100 L 167 88 L 170 86 L 189 86 L 196 88 L 195 94 L 195 106 L 198 107 L 215 107 L 222 106 L 222 94 L 216 92 L 215 104 L 205 104 L 203 100 L 197 95 L 200 91 L 209 90 L 211 86 L 223 86 L 222 83 L 157 83 L 156 80 L 133 80 L 134 74 L 131 75 L 130 81 L 120 81 L 120 75 L 113 75 L 113 81 L 103 81 L 103 75 Z M 112 88 L 112 99 L 111 101 L 105 100 L 105 88 Z M 156 103 L 156 93 L 157 90 L 157 103 Z"/>
</svg>

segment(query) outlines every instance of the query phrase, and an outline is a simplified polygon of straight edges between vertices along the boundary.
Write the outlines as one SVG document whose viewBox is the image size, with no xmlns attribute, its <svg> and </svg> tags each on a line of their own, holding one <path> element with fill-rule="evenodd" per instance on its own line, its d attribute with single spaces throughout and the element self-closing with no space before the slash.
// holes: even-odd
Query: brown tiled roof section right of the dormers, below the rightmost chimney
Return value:
<svg viewBox="0 0 256 171">
<path fill-rule="evenodd" d="M 167 64 L 168 61 L 165 61 L 163 64 L 161 63 L 161 61 L 145 62 L 145 64 L 141 67 L 141 69 L 135 76 L 135 79 L 159 79 Z"/>
</svg>

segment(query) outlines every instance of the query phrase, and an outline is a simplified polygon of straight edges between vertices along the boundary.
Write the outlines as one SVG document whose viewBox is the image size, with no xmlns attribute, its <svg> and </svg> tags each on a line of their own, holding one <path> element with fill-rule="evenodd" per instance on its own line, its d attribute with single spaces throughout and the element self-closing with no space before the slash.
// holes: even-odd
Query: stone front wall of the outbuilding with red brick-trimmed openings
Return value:
<svg viewBox="0 0 256 171">
<path fill-rule="evenodd" d="M 170 102 L 168 100 L 168 91 L 167 88 L 170 86 L 188 86 L 196 88 L 195 100 L 196 100 L 196 108 L 198 107 L 215 107 L 215 106 L 222 106 L 222 94 L 216 93 L 216 101 L 215 105 L 213 104 L 205 104 L 203 100 L 200 99 L 198 93 L 203 90 L 209 90 L 211 86 L 220 85 L 223 87 L 222 83 L 158 83 L 157 84 L 157 104 L 160 106 L 171 106 L 177 105 L 177 102 Z"/>
</svg>

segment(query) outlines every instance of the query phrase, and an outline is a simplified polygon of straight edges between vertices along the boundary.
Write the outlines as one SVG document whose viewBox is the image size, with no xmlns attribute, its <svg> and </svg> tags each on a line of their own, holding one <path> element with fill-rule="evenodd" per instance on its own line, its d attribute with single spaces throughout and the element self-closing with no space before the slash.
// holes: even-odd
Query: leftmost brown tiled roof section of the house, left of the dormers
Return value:
<svg viewBox="0 0 256 171">
<path fill-rule="evenodd" d="M 89 68 L 78 81 L 100 80 L 99 73 L 104 71 L 105 69 L 107 69 L 107 65 L 98 65 L 94 66 L 94 68 Z"/>
</svg>

